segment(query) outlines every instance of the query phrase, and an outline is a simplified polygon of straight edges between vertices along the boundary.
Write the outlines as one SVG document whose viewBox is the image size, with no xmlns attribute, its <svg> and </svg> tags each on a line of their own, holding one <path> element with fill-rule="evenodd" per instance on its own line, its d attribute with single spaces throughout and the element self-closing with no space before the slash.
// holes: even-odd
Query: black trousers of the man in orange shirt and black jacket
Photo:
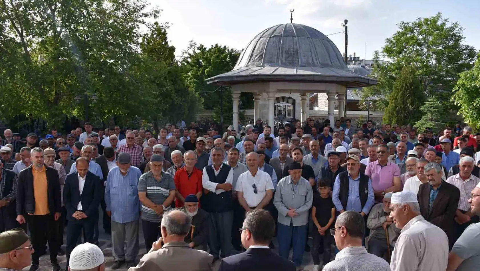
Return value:
<svg viewBox="0 0 480 271">
<path fill-rule="evenodd" d="M 32 254 L 32 265 L 38 265 L 41 251 L 45 251 L 45 245 L 48 242 L 48 251 L 50 252 L 50 262 L 57 261 L 58 242 L 57 242 L 57 222 L 52 214 L 35 215 L 27 214 L 25 219 L 30 231 L 30 241 L 35 252 Z"/>
</svg>

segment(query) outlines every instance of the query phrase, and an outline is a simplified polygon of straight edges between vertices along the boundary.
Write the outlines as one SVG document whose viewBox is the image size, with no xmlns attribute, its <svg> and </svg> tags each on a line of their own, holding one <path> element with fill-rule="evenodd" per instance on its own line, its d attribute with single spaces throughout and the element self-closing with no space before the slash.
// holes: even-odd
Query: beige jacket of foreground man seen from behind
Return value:
<svg viewBox="0 0 480 271">
<path fill-rule="evenodd" d="M 128 271 L 212 271 L 213 256 L 188 247 L 185 242 L 170 242 L 140 259 Z"/>
</svg>

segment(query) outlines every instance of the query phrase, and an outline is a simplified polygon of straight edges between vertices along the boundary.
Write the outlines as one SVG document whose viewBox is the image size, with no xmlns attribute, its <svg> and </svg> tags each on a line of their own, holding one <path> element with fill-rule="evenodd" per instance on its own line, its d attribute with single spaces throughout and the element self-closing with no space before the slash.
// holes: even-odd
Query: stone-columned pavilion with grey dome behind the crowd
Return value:
<svg viewBox="0 0 480 271">
<path fill-rule="evenodd" d="M 209 84 L 231 86 L 233 127 L 239 123 L 241 92 L 254 94 L 254 118 L 276 116 L 305 121 L 309 94 L 326 93 L 328 118 L 334 121 L 345 108 L 346 88 L 376 84 L 376 80 L 350 71 L 335 44 L 320 31 L 303 24 L 278 24 L 256 35 L 243 49 L 232 71 L 207 79 Z"/>
</svg>

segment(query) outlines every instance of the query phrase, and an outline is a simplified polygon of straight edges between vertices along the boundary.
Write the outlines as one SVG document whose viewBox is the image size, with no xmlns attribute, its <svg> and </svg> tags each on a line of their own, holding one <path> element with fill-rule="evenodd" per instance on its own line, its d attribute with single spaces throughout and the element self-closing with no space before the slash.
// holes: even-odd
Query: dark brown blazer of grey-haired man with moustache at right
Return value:
<svg viewBox="0 0 480 271">
<path fill-rule="evenodd" d="M 438 189 L 437 197 L 430 209 L 430 184 L 427 182 L 420 185 L 417 194 L 420 214 L 425 220 L 444 230 L 448 236 L 448 242 L 453 245 L 456 239 L 454 219 L 458 208 L 458 200 L 460 200 L 460 190 L 446 181 L 442 181 L 442 185 Z"/>
</svg>

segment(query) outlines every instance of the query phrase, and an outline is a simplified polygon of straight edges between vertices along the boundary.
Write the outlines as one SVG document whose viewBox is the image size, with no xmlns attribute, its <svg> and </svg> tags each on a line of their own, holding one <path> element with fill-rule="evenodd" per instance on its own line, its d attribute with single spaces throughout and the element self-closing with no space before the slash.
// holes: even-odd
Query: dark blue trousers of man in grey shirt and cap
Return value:
<svg viewBox="0 0 480 271">
<path fill-rule="evenodd" d="M 293 245 L 293 262 L 296 266 L 301 265 L 303 251 L 305 251 L 305 236 L 307 236 L 307 225 L 293 226 L 277 223 L 278 254 L 280 257 L 288 259 L 290 245 Z M 293 244 L 292 244 L 293 242 Z"/>
</svg>

